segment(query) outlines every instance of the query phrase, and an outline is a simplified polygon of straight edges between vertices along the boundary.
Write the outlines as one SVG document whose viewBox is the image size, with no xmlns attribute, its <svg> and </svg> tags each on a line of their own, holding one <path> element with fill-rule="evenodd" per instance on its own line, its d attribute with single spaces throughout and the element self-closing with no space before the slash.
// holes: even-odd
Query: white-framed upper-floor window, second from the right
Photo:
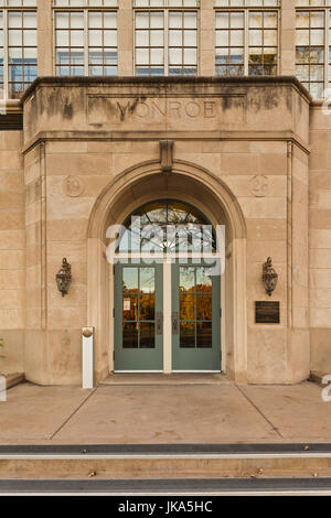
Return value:
<svg viewBox="0 0 331 518">
<path fill-rule="evenodd" d="M 245 2 L 246 3 L 246 2 Z M 276 77 L 277 75 L 279 75 L 279 71 L 280 71 L 280 21 L 281 21 L 281 9 L 280 9 L 280 3 L 278 2 L 278 7 L 249 7 L 249 6 L 241 6 L 241 7 L 218 7 L 218 6 L 215 6 L 214 7 L 214 12 L 215 12 L 215 37 L 214 37 L 214 42 L 215 42 L 215 63 L 214 63 L 214 71 L 215 71 L 215 75 L 217 77 L 229 77 L 229 76 L 222 76 L 220 74 L 217 74 L 217 64 L 216 64 L 216 53 L 217 53 L 217 48 L 222 48 L 222 46 L 217 46 L 216 45 L 216 36 L 217 36 L 217 29 L 216 29 L 216 15 L 217 15 L 217 12 L 227 12 L 227 13 L 232 13 L 232 12 L 241 12 L 241 13 L 244 13 L 244 74 L 242 76 L 232 76 L 232 77 L 245 77 L 245 76 L 249 76 L 249 13 L 250 12 L 274 12 L 276 13 L 276 17 L 277 17 L 277 54 L 276 54 L 276 57 L 277 57 L 277 64 L 276 64 L 276 74 L 273 75 L 273 76 L 268 76 L 268 77 Z M 261 26 L 261 31 L 264 31 L 264 26 Z M 252 45 L 254 47 L 254 45 Z M 229 45 L 229 48 L 231 48 L 231 45 Z M 233 48 L 236 48 L 236 47 L 233 47 Z M 265 48 L 265 46 L 261 46 L 261 48 Z M 249 77 L 264 77 L 264 76 L 249 76 Z"/>
</svg>

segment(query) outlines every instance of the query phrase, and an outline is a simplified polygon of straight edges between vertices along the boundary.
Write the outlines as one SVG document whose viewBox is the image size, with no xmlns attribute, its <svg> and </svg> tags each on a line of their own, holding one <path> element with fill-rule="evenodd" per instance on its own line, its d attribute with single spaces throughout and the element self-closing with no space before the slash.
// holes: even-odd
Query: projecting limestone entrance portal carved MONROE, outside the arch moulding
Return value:
<svg viewBox="0 0 331 518">
<path fill-rule="evenodd" d="M 111 181 L 129 168 L 159 161 L 159 140 L 164 138 L 174 140 L 175 161 L 194 164 L 225 183 L 243 213 L 248 343 L 246 353 L 241 352 L 247 358 L 241 361 L 247 363 L 248 382 L 297 382 L 308 377 L 309 99 L 292 79 L 269 83 L 195 80 L 193 88 L 189 82 L 167 78 L 111 79 L 102 85 L 47 78 L 26 95 L 28 379 L 79 384 L 84 325 L 97 328 L 95 371 L 97 379 L 106 376 L 111 365 L 111 307 L 100 287 L 109 279 L 106 262 L 96 257 L 94 263 L 87 256 L 88 220 Z M 139 205 L 146 183 L 134 194 Z M 117 203 L 125 212 L 126 197 Z M 103 256 L 103 244 L 98 246 Z M 279 325 L 255 323 L 255 301 L 269 300 L 261 284 L 268 256 L 279 274 L 271 298 L 280 302 Z M 63 257 L 73 273 L 64 298 L 55 284 Z M 237 282 L 235 271 L 231 280 Z M 93 291 L 103 299 L 98 314 L 88 305 Z M 229 373 L 236 354 L 229 345 Z"/>
</svg>

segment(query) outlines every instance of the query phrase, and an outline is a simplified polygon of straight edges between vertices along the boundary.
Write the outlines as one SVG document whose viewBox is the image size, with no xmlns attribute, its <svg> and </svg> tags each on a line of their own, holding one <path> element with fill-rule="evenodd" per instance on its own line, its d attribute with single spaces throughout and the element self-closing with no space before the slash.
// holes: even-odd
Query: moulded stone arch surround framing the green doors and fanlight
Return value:
<svg viewBox="0 0 331 518">
<path fill-rule="evenodd" d="M 159 199 L 175 199 L 200 211 L 214 226 L 225 225 L 225 270 L 222 276 L 222 370 L 233 379 L 247 380 L 246 226 L 236 197 L 207 170 L 174 161 L 171 174 L 160 162 L 145 162 L 117 175 L 98 196 L 87 234 L 87 316 L 94 325 L 95 379 L 114 370 L 114 269 L 107 260 L 107 229 L 122 225 L 137 207 Z M 171 273 L 168 283 L 171 282 Z M 170 300 L 167 301 L 170 304 Z M 171 310 L 163 307 L 163 314 Z M 163 321 L 166 322 L 166 321 Z M 166 324 L 164 324 L 166 325 Z M 168 325 L 171 326 L 171 320 Z M 170 373 L 171 346 L 163 347 L 163 371 Z"/>
</svg>

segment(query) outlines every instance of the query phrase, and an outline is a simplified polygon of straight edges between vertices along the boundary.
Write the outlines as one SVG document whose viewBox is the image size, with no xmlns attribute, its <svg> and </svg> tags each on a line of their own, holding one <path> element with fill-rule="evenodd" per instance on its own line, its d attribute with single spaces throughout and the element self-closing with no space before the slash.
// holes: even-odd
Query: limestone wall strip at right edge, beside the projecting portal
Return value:
<svg viewBox="0 0 331 518">
<path fill-rule="evenodd" d="M 310 109 L 309 279 L 311 370 L 331 373 L 331 112 Z"/>
</svg>

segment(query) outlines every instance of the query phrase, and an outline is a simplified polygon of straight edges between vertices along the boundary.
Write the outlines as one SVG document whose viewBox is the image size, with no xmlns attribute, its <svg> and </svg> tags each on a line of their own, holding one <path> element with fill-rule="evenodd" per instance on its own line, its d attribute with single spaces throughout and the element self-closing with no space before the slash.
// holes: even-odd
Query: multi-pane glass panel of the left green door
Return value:
<svg viewBox="0 0 331 518">
<path fill-rule="evenodd" d="M 154 348 L 154 268 L 122 269 L 122 347 Z"/>
</svg>

